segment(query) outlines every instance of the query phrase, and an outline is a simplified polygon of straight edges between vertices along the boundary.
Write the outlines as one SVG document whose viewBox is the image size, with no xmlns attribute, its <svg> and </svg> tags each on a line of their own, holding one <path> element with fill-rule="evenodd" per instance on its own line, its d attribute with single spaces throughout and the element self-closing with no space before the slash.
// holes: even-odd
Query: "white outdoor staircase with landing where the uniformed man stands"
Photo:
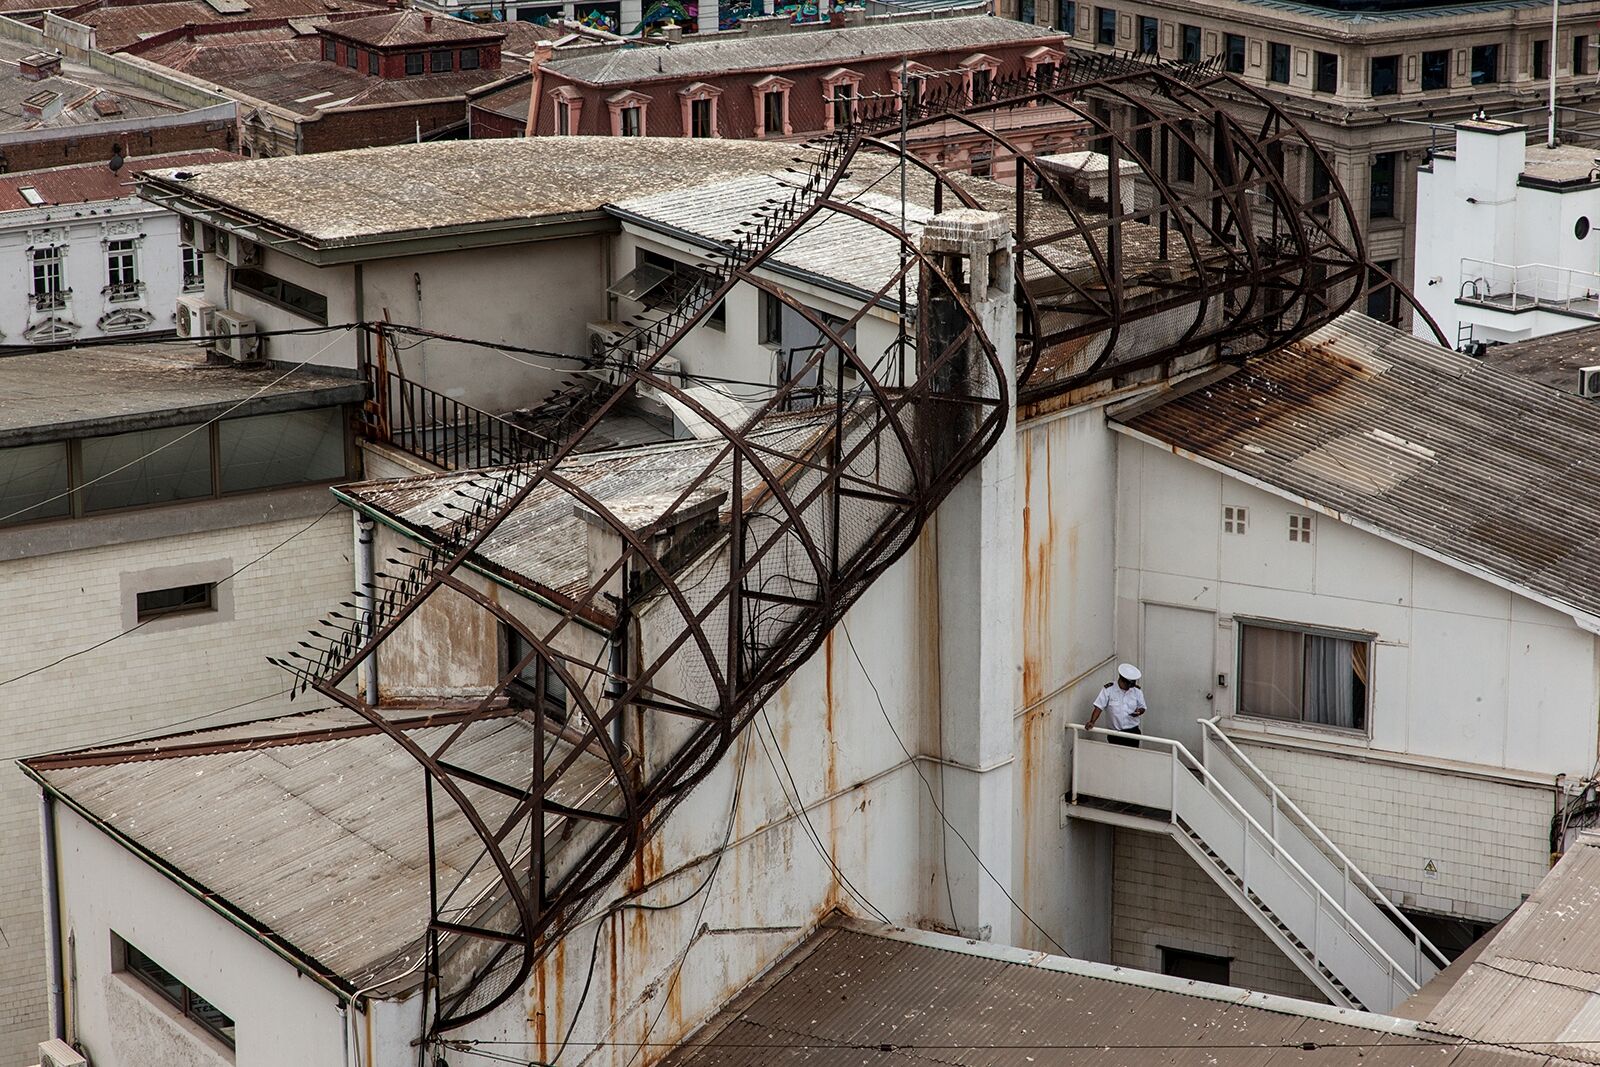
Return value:
<svg viewBox="0 0 1600 1067">
<path fill-rule="evenodd" d="M 1181 742 L 1107 744 L 1070 725 L 1074 817 L 1166 833 L 1330 1001 L 1392 1011 L 1443 953 L 1214 721 Z"/>
</svg>

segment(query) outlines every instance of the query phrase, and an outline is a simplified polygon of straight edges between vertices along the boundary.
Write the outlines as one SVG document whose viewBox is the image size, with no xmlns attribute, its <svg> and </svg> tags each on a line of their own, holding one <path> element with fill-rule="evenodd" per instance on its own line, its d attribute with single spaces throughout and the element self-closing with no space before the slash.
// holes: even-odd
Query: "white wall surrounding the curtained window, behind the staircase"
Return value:
<svg viewBox="0 0 1600 1067">
<path fill-rule="evenodd" d="M 1147 677 L 1146 731 L 1192 742 L 1192 718 L 1224 715 L 1381 888 L 1502 917 L 1547 865 L 1557 776 L 1594 765 L 1595 638 L 1325 517 L 1291 542 L 1288 515 L 1306 512 L 1290 502 L 1133 438 L 1118 453 L 1118 646 Z M 1222 533 L 1224 506 L 1248 509 L 1246 534 Z M 1370 728 L 1234 715 L 1240 619 L 1371 633 Z M 1440 873 L 1424 877 L 1429 861 Z"/>
</svg>

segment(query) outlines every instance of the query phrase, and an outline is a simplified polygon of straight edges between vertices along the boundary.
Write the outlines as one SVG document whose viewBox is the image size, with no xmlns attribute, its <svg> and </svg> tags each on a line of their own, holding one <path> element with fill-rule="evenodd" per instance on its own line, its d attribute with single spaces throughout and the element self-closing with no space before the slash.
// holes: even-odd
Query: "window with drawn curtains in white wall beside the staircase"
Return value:
<svg viewBox="0 0 1600 1067">
<path fill-rule="evenodd" d="M 1242 624 L 1238 713 L 1365 731 L 1371 648 L 1360 633 Z"/>
</svg>

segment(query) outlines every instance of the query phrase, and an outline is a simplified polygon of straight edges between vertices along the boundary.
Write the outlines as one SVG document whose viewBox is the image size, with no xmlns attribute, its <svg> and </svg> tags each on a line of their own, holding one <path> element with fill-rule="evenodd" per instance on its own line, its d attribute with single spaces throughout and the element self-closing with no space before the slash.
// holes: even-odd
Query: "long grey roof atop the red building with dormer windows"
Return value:
<svg viewBox="0 0 1600 1067">
<path fill-rule="evenodd" d="M 981 51 L 1011 42 L 1062 40 L 1061 30 L 989 16 L 946 18 L 880 26 L 853 26 L 696 40 L 672 48 L 622 48 L 557 59 L 546 69 L 586 85 L 712 77 L 730 70 L 782 70 L 795 66 L 850 64 L 867 58 L 915 56 L 930 51 Z"/>
</svg>

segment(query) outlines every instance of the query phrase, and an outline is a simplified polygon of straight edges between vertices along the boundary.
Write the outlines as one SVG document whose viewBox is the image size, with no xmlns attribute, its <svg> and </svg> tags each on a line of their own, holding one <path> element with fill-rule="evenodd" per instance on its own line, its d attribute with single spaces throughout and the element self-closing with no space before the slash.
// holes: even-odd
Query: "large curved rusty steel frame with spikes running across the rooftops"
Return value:
<svg viewBox="0 0 1600 1067">
<path fill-rule="evenodd" d="M 1245 130 L 1206 94 L 1222 82 L 1250 91 L 1216 64 L 1083 56 L 1048 78 L 997 83 L 982 99 L 928 83 L 920 91 L 907 85 L 898 99 L 864 101 L 854 122 L 805 147 L 787 192 L 746 221 L 682 304 L 611 350 L 608 363 L 624 381 L 552 458 L 474 474 L 440 525 L 418 536 L 421 550 L 392 560 L 392 569 L 357 590 L 354 616 L 330 614 L 306 651 L 274 661 L 301 689 L 386 733 L 426 776 L 418 819 L 429 835 L 432 891 L 419 939 L 430 1037 L 485 1016 L 525 985 L 539 955 L 592 909 L 763 702 L 909 549 L 998 440 L 1019 398 L 1048 398 L 1214 346 L 1232 358 L 1264 352 L 1349 306 L 1366 266 L 1349 200 L 1338 182 L 1320 200 L 1298 197 L 1275 166 L 1274 146 L 1315 146 L 1264 98 L 1269 122 Z M 1094 94 L 1136 101 L 1150 122 L 1131 133 L 1098 125 L 1080 109 Z M 1101 210 L 984 125 L 1005 109 L 1038 104 L 1082 114 L 1107 146 Z M 934 123 L 990 133 L 1016 158 L 1014 189 L 906 158 L 894 133 Z M 1192 155 L 1194 181 L 1173 178 L 1171 146 Z M 925 251 L 850 195 L 851 166 L 885 157 L 933 184 L 934 211 L 992 208 L 1010 218 L 1014 246 L 1003 270 L 1016 278 L 1019 301 L 1014 368 L 1002 363 L 1013 358 L 1013 339 L 986 336 L 968 298 L 974 264 Z M 1122 210 L 1125 163 L 1154 194 L 1142 206 Z M 808 309 L 765 269 L 797 234 L 829 218 L 867 226 L 899 250 L 899 269 L 845 323 Z M 1139 240 L 1130 240 L 1136 230 Z M 1147 262 L 1134 254 L 1141 242 L 1155 250 Z M 718 418 L 659 366 L 736 286 L 782 301 L 824 339 L 802 374 L 774 386 L 742 422 Z M 904 304 L 907 290 L 917 293 L 915 315 Z M 894 307 L 896 299 L 898 352 L 846 344 L 872 307 Z M 382 325 L 373 328 L 382 336 Z M 802 395 L 805 374 L 826 382 L 821 397 Z M 1010 395 L 1013 374 L 1019 397 Z M 672 395 L 717 434 L 696 453 L 701 466 L 674 485 L 672 502 L 643 523 L 563 472 L 576 443 L 635 389 Z M 802 411 L 792 410 L 797 402 Z M 587 590 L 552 600 L 558 606 L 534 625 L 480 592 L 464 568 L 512 512 L 547 494 L 595 517 L 616 537 L 618 555 Z M 672 523 L 696 507 L 694 537 L 664 550 Z M 693 581 L 685 577 L 691 573 Z M 443 741 L 424 745 L 352 683 L 357 667 L 435 595 L 466 598 L 530 651 L 504 664 L 498 685 Z M 642 619 L 650 622 L 648 648 Z M 610 633 L 605 662 L 563 640 L 597 622 Z M 506 713 L 507 686 L 536 661 L 565 685 L 566 721 L 539 701 L 526 712 L 534 736 L 550 742 L 525 779 L 467 766 L 459 739 L 477 718 Z M 643 729 L 646 717 L 664 725 L 659 736 L 677 737 L 670 752 L 629 749 L 630 723 Z M 581 805 L 555 800 L 563 776 L 586 757 L 603 761 L 606 789 Z M 482 843 L 488 889 L 480 880 L 466 893 L 462 878 L 451 883 L 442 872 L 435 827 L 446 817 L 464 819 Z M 558 856 L 547 854 L 552 824 L 563 827 Z"/>
</svg>

